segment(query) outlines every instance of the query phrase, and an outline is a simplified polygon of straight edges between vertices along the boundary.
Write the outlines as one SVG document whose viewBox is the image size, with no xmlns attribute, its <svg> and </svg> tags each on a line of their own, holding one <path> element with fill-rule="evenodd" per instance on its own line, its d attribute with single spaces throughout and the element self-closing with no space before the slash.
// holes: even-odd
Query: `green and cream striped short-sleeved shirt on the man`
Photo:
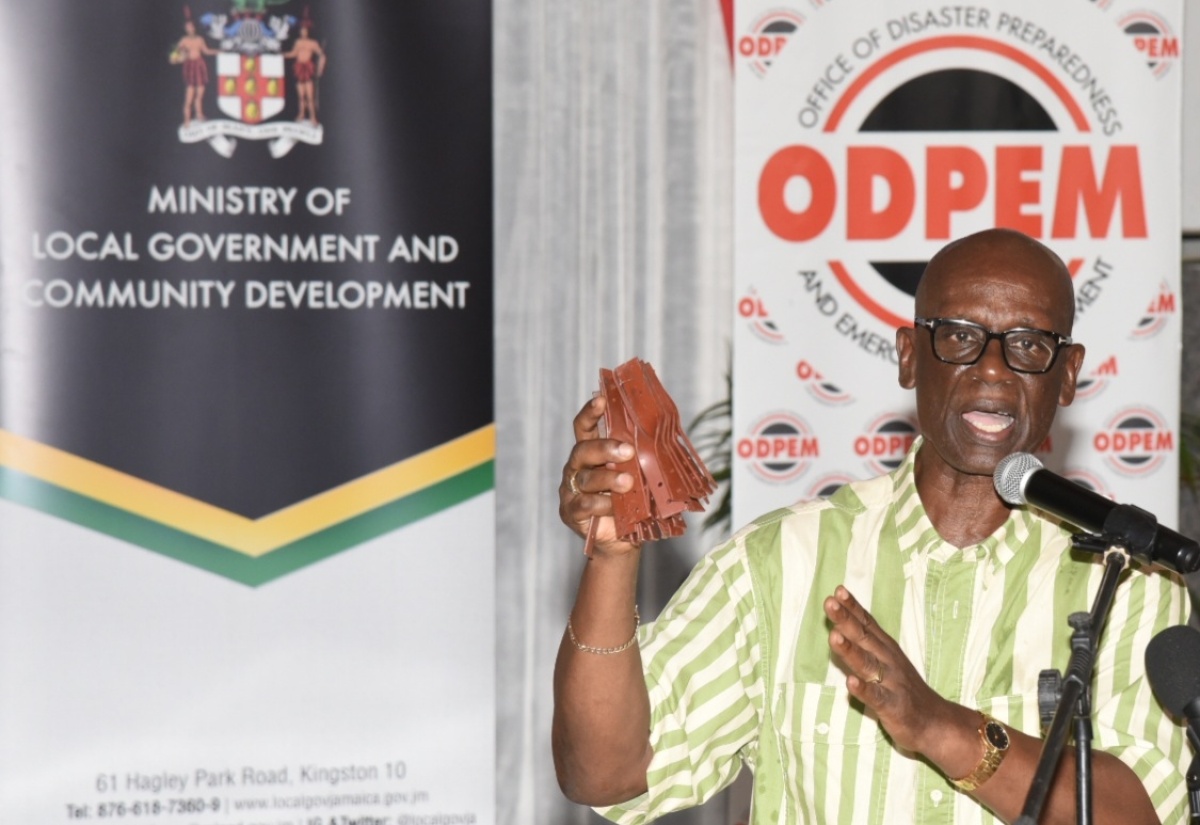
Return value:
<svg viewBox="0 0 1200 825">
<path fill-rule="evenodd" d="M 764 516 L 696 566 L 640 636 L 649 790 L 600 813 L 650 821 L 712 797 L 744 763 L 754 825 L 998 821 L 851 701 L 822 601 L 845 584 L 941 695 L 1037 735 L 1038 674 L 1066 670 L 1067 616 L 1091 609 L 1103 564 L 1025 508 L 980 544 L 948 544 L 917 494 L 916 450 L 888 476 Z M 1142 657 L 1187 609 L 1178 577 L 1126 571 L 1092 691 L 1094 746 L 1136 772 L 1164 825 L 1188 814 L 1186 737 Z"/>
</svg>

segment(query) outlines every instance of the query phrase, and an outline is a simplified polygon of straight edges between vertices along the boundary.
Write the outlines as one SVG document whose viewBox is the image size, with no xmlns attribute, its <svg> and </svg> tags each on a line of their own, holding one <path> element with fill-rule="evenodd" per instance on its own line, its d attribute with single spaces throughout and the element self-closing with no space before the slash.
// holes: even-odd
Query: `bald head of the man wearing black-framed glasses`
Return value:
<svg viewBox="0 0 1200 825">
<path fill-rule="evenodd" d="M 917 287 L 916 314 L 925 325 L 899 330 L 896 350 L 900 385 L 917 391 L 917 416 L 931 451 L 923 460 L 953 474 L 990 476 L 1004 456 L 1042 444 L 1057 408 L 1075 397 L 1084 361 L 1082 347 L 1061 343 L 1075 317 L 1075 293 L 1062 260 L 1008 229 L 970 235 L 929 261 Z M 1016 329 L 1055 335 L 988 336 Z M 1025 372 L 1043 366 L 1028 353 L 1038 338 L 1054 350 L 1054 360 L 1045 372 Z M 948 362 L 971 360 L 978 353 L 972 342 L 984 339 L 973 363 Z"/>
</svg>

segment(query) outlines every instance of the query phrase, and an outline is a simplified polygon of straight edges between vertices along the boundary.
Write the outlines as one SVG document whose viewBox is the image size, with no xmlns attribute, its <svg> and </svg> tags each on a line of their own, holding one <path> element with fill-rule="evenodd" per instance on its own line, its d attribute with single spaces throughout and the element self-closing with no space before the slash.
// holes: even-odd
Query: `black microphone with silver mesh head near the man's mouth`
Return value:
<svg viewBox="0 0 1200 825">
<path fill-rule="evenodd" d="M 1099 493 L 1055 475 L 1027 452 L 1014 452 L 996 465 L 996 493 L 1012 505 L 1028 504 L 1079 525 L 1087 532 L 1133 538 L 1130 553 L 1181 573 L 1200 570 L 1200 544 L 1158 524 L 1134 505 L 1118 505 Z M 1140 518 L 1139 518 L 1140 516 Z M 1140 535 L 1130 535 L 1140 534 Z"/>
</svg>

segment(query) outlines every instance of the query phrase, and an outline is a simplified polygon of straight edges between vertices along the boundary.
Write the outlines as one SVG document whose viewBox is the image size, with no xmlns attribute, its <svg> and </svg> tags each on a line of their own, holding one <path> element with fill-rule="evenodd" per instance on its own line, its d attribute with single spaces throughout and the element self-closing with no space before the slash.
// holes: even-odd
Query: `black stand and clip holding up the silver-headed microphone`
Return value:
<svg viewBox="0 0 1200 825">
<path fill-rule="evenodd" d="M 1104 555 L 1104 578 L 1092 602 L 1092 612 L 1073 613 L 1068 619 L 1074 632 L 1067 676 L 1062 680 L 1054 719 L 1042 741 L 1042 755 L 1025 797 L 1025 807 L 1014 825 L 1036 825 L 1042 815 L 1072 721 L 1075 723 L 1075 821 L 1079 825 L 1092 823 L 1091 685 L 1096 648 L 1108 622 L 1121 572 L 1130 555 L 1148 556 L 1158 522 L 1141 507 L 1117 505 L 1105 519 L 1104 530 L 1098 536 L 1076 534 L 1070 538 L 1075 549 Z M 1057 672 L 1051 673 L 1058 676 Z"/>
</svg>

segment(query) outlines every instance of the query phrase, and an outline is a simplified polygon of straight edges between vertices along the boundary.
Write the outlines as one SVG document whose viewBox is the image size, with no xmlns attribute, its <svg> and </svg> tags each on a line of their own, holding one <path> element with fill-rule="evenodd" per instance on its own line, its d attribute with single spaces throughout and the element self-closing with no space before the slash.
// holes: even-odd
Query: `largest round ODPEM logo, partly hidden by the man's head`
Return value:
<svg viewBox="0 0 1200 825">
<path fill-rule="evenodd" d="M 808 139 L 774 150 L 758 175 L 766 229 L 826 241 L 829 276 L 892 329 L 911 324 L 930 254 L 968 230 L 1046 239 L 1072 272 L 1093 239 L 1148 235 L 1140 150 L 1114 141 L 1123 126 L 1098 71 L 1048 49 L 1055 32 L 977 13 L 971 31 L 989 34 L 889 24 L 856 40 L 799 102 Z M 970 100 L 1004 106 L 944 104 Z M 853 313 L 838 320 L 863 327 Z"/>
</svg>

